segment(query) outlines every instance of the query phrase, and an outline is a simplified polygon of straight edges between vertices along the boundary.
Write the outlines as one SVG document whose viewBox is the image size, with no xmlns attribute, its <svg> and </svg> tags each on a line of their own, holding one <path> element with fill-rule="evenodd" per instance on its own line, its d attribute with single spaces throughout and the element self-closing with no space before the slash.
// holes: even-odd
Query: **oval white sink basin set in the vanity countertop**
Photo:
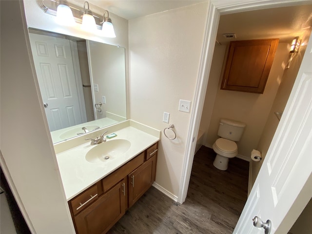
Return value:
<svg viewBox="0 0 312 234">
<path fill-rule="evenodd" d="M 129 150 L 131 143 L 129 140 L 116 139 L 109 140 L 96 145 L 86 154 L 86 160 L 92 163 L 108 162 L 117 158 Z"/>
</svg>

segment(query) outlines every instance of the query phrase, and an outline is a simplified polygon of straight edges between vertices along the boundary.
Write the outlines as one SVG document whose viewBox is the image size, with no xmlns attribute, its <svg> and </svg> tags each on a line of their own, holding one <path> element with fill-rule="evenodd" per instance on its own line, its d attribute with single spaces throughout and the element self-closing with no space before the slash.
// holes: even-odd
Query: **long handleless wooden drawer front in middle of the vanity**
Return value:
<svg viewBox="0 0 312 234">
<path fill-rule="evenodd" d="M 136 156 L 131 161 L 124 164 L 122 167 L 117 169 L 115 172 L 111 173 L 109 176 L 106 176 L 102 179 L 103 192 L 108 191 L 125 176 L 128 176 L 129 173 L 133 172 L 138 166 L 144 162 L 144 152 Z"/>
</svg>

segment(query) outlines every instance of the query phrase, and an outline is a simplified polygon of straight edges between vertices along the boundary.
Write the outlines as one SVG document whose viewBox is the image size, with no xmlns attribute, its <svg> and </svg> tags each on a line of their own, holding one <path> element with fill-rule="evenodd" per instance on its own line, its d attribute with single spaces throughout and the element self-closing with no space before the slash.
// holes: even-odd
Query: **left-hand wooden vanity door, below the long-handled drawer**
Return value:
<svg viewBox="0 0 312 234">
<path fill-rule="evenodd" d="M 125 214 L 125 181 L 117 183 L 75 216 L 78 234 L 106 233 Z"/>
</svg>

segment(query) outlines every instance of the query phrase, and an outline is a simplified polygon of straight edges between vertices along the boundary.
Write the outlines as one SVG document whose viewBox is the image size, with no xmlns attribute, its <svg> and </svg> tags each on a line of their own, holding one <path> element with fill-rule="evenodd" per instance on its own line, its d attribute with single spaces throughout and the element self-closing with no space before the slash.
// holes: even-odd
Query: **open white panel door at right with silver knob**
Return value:
<svg viewBox="0 0 312 234">
<path fill-rule="evenodd" d="M 282 223 L 312 173 L 312 36 L 253 189 L 234 229 L 235 234 L 263 234 L 252 219 Z M 311 192 L 312 193 L 312 192 Z"/>
</svg>

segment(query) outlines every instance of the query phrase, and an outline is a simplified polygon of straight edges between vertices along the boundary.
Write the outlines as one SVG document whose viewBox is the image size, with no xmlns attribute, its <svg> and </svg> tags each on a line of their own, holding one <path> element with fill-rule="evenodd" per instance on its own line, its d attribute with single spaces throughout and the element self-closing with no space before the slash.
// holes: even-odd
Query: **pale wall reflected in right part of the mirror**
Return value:
<svg viewBox="0 0 312 234">
<path fill-rule="evenodd" d="M 106 100 L 97 119 L 107 117 L 106 112 L 126 118 L 125 49 L 95 41 L 87 41 L 87 47 L 92 81 L 98 84 L 95 103 L 102 102 L 102 96 Z"/>
</svg>

